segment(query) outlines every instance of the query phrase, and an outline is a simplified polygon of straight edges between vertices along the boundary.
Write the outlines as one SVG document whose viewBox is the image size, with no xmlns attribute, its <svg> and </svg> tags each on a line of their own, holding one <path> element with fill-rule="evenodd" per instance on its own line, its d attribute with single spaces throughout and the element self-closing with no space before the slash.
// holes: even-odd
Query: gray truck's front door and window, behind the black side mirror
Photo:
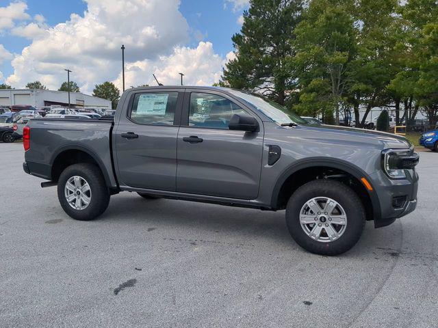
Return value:
<svg viewBox="0 0 438 328">
<path fill-rule="evenodd" d="M 187 90 L 178 133 L 177 191 L 237 199 L 257 198 L 263 124 L 227 94 Z M 233 114 L 252 115 L 258 132 L 230 131 Z"/>
</svg>

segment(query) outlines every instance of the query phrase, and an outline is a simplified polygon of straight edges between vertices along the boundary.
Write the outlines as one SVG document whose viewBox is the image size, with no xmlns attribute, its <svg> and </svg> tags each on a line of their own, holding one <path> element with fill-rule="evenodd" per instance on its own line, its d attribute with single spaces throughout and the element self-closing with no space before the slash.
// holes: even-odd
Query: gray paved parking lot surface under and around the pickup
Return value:
<svg viewBox="0 0 438 328">
<path fill-rule="evenodd" d="M 112 197 L 74 221 L 0 143 L 0 327 L 438 327 L 438 154 L 420 202 L 343 256 L 315 256 L 284 212 Z"/>
</svg>

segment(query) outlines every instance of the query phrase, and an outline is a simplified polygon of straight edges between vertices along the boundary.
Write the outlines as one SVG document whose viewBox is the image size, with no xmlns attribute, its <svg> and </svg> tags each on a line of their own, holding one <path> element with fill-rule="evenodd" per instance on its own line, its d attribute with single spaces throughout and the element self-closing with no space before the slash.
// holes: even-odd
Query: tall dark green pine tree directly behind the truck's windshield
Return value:
<svg viewBox="0 0 438 328">
<path fill-rule="evenodd" d="M 302 0 L 251 0 L 240 33 L 232 40 L 235 59 L 224 68 L 220 85 L 259 92 L 281 105 L 293 98 L 296 76 L 286 70 L 295 55 L 294 29 Z"/>
</svg>

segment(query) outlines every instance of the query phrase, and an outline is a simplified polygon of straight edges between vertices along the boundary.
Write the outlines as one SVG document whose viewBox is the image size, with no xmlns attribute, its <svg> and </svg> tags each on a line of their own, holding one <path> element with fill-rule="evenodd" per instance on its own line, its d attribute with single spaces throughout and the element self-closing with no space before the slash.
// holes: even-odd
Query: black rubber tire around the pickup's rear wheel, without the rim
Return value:
<svg viewBox="0 0 438 328">
<path fill-rule="evenodd" d="M 68 179 L 73 176 L 83 178 L 90 186 L 90 203 L 81 210 L 70 206 L 64 191 Z M 79 221 L 96 219 L 105 212 L 110 203 L 110 192 L 101 170 L 96 165 L 88 163 L 74 164 L 64 169 L 57 182 L 57 197 L 64 212 Z"/>
</svg>

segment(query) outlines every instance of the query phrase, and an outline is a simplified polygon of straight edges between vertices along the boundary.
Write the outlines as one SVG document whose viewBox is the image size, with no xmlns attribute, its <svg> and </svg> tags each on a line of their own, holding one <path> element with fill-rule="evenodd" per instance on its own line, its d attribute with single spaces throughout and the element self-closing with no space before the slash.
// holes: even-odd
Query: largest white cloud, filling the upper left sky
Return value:
<svg viewBox="0 0 438 328">
<path fill-rule="evenodd" d="M 64 68 L 70 68 L 71 79 L 81 90 L 91 92 L 94 84 L 118 76 L 121 44 L 125 44 L 129 66 L 172 56 L 174 49 L 183 49 L 181 44 L 189 40 L 190 29 L 179 12 L 179 0 L 131 0 L 129 5 L 123 0 L 87 3 L 83 16 L 72 14 L 70 20 L 44 31 L 40 16 L 35 17 L 35 25 L 14 29 L 14 33 L 38 38 L 12 60 L 14 73 L 7 79 L 9 84 L 23 87 L 38 79 L 57 89 L 66 80 Z"/>
</svg>

